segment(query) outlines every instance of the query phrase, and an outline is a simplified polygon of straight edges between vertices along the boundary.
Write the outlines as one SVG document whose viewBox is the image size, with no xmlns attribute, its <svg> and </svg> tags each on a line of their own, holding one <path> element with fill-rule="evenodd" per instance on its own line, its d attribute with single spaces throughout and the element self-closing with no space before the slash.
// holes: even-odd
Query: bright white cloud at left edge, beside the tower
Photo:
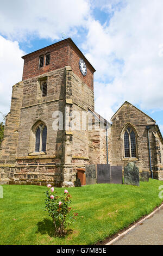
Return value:
<svg viewBox="0 0 163 256">
<path fill-rule="evenodd" d="M 17 41 L 10 41 L 0 35 L 0 111 L 10 111 L 12 86 L 22 80 L 23 56 Z M 2 115 L 0 114 L 2 120 Z"/>
</svg>

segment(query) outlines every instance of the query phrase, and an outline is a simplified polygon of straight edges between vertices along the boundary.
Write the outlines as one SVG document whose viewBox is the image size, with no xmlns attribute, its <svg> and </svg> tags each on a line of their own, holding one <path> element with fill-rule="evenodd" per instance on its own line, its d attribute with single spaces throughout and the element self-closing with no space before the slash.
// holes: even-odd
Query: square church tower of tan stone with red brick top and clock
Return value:
<svg viewBox="0 0 163 256">
<path fill-rule="evenodd" d="M 12 89 L 1 144 L 2 178 L 63 186 L 89 162 L 89 132 L 80 127 L 81 117 L 94 110 L 95 69 L 71 38 L 22 58 L 23 77 Z"/>
</svg>

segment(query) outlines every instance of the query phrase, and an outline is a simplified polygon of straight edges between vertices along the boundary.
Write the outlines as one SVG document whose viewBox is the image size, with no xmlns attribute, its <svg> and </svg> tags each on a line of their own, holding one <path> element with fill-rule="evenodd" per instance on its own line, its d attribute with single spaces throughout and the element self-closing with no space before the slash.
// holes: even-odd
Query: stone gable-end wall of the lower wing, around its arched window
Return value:
<svg viewBox="0 0 163 256">
<path fill-rule="evenodd" d="M 129 161 L 134 161 L 140 170 L 149 170 L 149 151 L 148 151 L 148 138 L 146 126 L 153 123 L 154 120 L 148 117 L 145 113 L 139 111 L 129 102 L 118 110 L 112 118 L 111 126 L 111 154 L 112 164 L 127 165 Z M 137 157 L 127 158 L 124 157 L 123 136 L 121 134 L 123 127 L 130 123 L 137 131 Z M 152 143 L 152 131 L 149 132 L 150 143 Z M 154 160 L 152 159 L 152 164 Z M 153 166 L 154 168 L 154 166 Z"/>
</svg>

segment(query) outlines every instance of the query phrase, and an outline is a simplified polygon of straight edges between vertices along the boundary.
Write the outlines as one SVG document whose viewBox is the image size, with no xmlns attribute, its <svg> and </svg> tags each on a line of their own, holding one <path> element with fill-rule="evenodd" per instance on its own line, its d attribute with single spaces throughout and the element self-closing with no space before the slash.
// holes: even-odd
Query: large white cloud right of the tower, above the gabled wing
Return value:
<svg viewBox="0 0 163 256">
<path fill-rule="evenodd" d="M 163 109 L 163 2 L 125 2 L 109 25 L 102 26 L 94 19 L 87 23 L 85 51 L 97 70 L 96 111 L 102 115 L 104 109 L 115 111 L 126 100 L 141 109 Z M 101 9 L 109 12 L 106 4 Z"/>
</svg>

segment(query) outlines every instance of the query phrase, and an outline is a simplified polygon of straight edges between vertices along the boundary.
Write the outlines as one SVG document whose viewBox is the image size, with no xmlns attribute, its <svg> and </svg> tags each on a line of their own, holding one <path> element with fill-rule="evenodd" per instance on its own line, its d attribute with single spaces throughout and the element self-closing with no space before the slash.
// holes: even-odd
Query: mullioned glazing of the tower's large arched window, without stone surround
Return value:
<svg viewBox="0 0 163 256">
<path fill-rule="evenodd" d="M 39 124 L 35 130 L 35 152 L 46 151 L 47 127 Z"/>
</svg>

